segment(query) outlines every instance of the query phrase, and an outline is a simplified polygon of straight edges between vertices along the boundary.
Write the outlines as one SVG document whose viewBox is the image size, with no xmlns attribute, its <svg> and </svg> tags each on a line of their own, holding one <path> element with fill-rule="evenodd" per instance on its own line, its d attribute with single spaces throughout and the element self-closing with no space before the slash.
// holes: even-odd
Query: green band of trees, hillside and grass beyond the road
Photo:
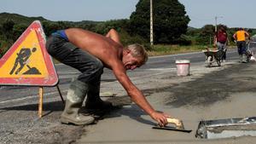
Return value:
<svg viewBox="0 0 256 144">
<path fill-rule="evenodd" d="M 46 37 L 56 30 L 79 27 L 105 35 L 111 28 L 117 30 L 124 45 L 142 43 L 149 55 L 169 55 L 200 51 L 212 48 L 215 26 L 205 25 L 201 28 L 189 27 L 189 15 L 178 0 L 154 1 L 154 46 L 149 43 L 150 9 L 148 0 L 139 0 L 136 11 L 130 19 L 108 21 L 50 21 L 43 17 L 26 17 L 20 14 L 0 14 L 0 58 L 20 37 L 33 20 L 40 20 Z M 224 25 L 223 25 L 224 26 Z M 235 45 L 232 35 L 236 27 L 226 27 L 230 44 Z M 253 36 L 256 29 L 247 31 Z"/>
</svg>

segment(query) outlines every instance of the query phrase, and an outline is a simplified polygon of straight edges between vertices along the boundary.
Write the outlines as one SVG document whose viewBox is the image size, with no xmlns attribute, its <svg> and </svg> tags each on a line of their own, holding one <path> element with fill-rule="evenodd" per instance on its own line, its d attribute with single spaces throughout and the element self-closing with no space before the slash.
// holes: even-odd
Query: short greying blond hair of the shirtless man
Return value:
<svg viewBox="0 0 256 144">
<path fill-rule="evenodd" d="M 145 64 L 148 60 L 148 53 L 146 49 L 143 47 L 143 45 L 134 43 L 128 45 L 125 49 L 131 50 L 131 55 L 134 57 L 142 58 L 142 65 Z"/>
</svg>

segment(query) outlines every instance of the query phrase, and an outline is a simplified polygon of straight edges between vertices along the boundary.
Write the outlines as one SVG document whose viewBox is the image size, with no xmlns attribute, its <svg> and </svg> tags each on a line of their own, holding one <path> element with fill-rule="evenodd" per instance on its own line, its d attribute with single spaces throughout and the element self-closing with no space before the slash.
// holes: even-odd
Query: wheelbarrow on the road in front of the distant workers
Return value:
<svg viewBox="0 0 256 144">
<path fill-rule="evenodd" d="M 221 66 L 221 60 L 224 55 L 224 50 L 202 50 L 202 52 L 206 55 L 206 64 L 211 67 L 212 63 L 217 62 L 218 66 Z"/>
</svg>

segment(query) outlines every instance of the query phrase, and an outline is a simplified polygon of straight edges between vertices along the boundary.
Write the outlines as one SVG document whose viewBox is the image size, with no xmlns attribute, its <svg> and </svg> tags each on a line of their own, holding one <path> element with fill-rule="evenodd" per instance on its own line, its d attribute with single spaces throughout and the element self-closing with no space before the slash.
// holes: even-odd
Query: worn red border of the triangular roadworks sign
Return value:
<svg viewBox="0 0 256 144">
<path fill-rule="evenodd" d="M 0 85 L 55 86 L 58 84 L 59 78 L 55 72 L 55 66 L 51 57 L 45 49 L 45 34 L 43 27 L 38 20 L 33 21 L 32 24 L 27 27 L 26 31 L 21 34 L 14 45 L 6 52 L 5 55 L 3 55 L 2 59 L 0 59 L 0 69 L 31 31 L 35 31 L 37 34 L 39 46 L 41 48 L 42 55 L 44 56 L 45 66 L 48 71 L 48 76 L 46 76 L 46 78 L 2 78 L 0 73 Z"/>
</svg>

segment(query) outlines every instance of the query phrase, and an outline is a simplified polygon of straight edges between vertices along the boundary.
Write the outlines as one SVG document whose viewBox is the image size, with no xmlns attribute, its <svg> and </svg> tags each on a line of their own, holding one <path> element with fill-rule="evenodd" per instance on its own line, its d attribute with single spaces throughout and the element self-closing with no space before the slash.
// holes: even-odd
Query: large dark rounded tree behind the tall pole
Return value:
<svg viewBox="0 0 256 144">
<path fill-rule="evenodd" d="M 131 34 L 139 34 L 149 41 L 149 0 L 140 0 L 131 14 Z M 183 4 L 177 0 L 153 0 L 154 43 L 177 43 L 189 24 Z"/>
</svg>

